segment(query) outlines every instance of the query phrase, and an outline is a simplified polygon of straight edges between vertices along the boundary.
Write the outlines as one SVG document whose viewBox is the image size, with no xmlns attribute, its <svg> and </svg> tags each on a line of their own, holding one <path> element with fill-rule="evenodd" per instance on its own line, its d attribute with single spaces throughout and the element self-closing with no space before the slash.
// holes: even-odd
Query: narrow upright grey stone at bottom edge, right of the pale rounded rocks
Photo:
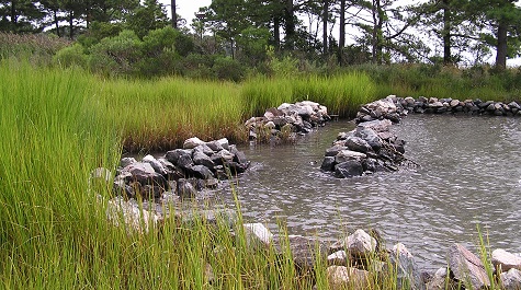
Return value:
<svg viewBox="0 0 521 290">
<path fill-rule="evenodd" d="M 398 289 L 426 289 L 426 285 L 421 281 L 421 274 L 416 265 L 415 258 L 404 244 L 398 243 L 394 245 L 389 258 L 390 265 L 396 271 Z"/>
</svg>

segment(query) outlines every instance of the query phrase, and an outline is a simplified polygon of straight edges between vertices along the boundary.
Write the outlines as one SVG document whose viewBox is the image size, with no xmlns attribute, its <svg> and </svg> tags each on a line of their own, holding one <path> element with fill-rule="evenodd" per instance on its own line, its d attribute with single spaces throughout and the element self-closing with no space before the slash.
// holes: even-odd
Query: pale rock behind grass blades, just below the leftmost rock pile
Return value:
<svg viewBox="0 0 521 290">
<path fill-rule="evenodd" d="M 109 200 L 106 218 L 115 227 L 125 227 L 128 234 L 147 233 L 150 227 L 157 227 L 161 220 L 158 214 L 146 209 L 139 209 L 131 201 L 117 197 Z"/>
</svg>

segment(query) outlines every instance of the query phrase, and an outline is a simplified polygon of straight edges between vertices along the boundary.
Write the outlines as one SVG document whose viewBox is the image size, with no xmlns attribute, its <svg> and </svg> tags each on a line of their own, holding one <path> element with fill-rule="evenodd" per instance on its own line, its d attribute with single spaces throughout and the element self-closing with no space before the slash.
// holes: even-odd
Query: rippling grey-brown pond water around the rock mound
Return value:
<svg viewBox="0 0 521 290">
<path fill-rule="evenodd" d="M 373 228 L 426 270 L 446 265 L 453 243 L 477 253 L 478 225 L 491 248 L 521 252 L 520 119 L 411 115 L 393 130 L 420 169 L 348 179 L 321 173 L 326 148 L 352 128 L 330 123 L 293 146 L 241 148 L 252 161 L 237 186 L 246 219 L 325 240 Z"/>
</svg>

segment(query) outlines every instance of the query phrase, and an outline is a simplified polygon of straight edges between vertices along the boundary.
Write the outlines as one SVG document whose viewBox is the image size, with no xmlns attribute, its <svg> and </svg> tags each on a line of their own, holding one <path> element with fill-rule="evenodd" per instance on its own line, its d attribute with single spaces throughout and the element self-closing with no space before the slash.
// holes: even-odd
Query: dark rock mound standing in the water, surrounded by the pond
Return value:
<svg viewBox="0 0 521 290">
<path fill-rule="evenodd" d="M 397 171 L 406 161 L 405 141 L 390 132 L 388 119 L 364 121 L 356 129 L 340 132 L 326 150 L 320 169 L 339 178 L 382 171 Z"/>
</svg>

